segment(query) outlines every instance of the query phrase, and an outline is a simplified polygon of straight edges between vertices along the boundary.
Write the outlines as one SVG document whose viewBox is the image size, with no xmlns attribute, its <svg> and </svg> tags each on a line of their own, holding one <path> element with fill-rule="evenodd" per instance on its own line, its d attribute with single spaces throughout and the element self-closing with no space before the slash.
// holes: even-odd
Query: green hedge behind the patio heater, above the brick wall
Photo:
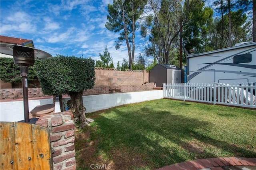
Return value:
<svg viewBox="0 0 256 170">
<path fill-rule="evenodd" d="M 36 62 L 35 62 L 36 64 Z M 0 58 L 0 78 L 4 82 L 22 82 L 22 77 L 20 76 L 20 66 L 13 63 L 13 58 Z M 33 67 L 30 66 L 28 69 L 28 83 L 33 80 L 37 80 L 36 72 Z"/>
</svg>

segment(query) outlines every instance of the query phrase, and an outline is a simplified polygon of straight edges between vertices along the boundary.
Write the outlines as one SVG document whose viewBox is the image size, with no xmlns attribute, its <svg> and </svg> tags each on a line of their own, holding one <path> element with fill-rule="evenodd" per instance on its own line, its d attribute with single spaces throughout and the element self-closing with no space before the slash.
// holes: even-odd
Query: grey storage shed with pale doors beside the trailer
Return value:
<svg viewBox="0 0 256 170">
<path fill-rule="evenodd" d="M 170 64 L 156 64 L 149 71 L 149 82 L 162 87 L 163 83 L 184 83 L 184 70 Z"/>
</svg>

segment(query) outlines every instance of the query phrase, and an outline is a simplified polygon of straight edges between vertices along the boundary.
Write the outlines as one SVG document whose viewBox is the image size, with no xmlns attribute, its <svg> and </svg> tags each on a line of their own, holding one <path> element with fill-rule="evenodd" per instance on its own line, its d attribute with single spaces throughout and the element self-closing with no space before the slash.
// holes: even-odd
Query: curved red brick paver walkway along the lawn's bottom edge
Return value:
<svg viewBox="0 0 256 170">
<path fill-rule="evenodd" d="M 232 168 L 233 167 L 233 168 Z M 206 158 L 164 166 L 158 170 L 256 170 L 256 158 Z"/>
</svg>

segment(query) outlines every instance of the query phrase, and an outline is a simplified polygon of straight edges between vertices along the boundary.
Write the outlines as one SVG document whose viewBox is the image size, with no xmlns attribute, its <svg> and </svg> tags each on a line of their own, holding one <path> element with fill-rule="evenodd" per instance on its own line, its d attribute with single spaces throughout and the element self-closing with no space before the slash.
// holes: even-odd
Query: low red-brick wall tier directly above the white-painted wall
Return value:
<svg viewBox="0 0 256 170">
<path fill-rule="evenodd" d="M 89 89 L 84 92 L 83 96 L 96 95 L 96 94 L 110 94 L 120 92 L 138 92 L 145 90 L 152 90 L 154 83 L 145 83 L 140 85 L 119 85 L 119 86 L 94 86 L 93 89 Z M 47 97 L 42 93 L 41 88 L 28 88 L 28 98 L 40 98 Z M 23 98 L 22 88 L 5 88 L 0 89 L 0 99 L 10 100 Z"/>
</svg>

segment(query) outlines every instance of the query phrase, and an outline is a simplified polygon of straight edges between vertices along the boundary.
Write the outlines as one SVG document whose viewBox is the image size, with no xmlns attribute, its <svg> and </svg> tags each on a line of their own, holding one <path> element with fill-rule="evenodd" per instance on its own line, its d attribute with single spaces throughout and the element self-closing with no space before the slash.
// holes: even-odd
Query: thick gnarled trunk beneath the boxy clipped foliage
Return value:
<svg viewBox="0 0 256 170">
<path fill-rule="evenodd" d="M 85 116 L 85 110 L 83 104 L 83 91 L 80 92 L 70 92 L 70 100 L 68 101 L 68 107 L 72 110 L 74 114 L 74 122 L 79 125 L 80 128 L 84 128 L 92 122 L 92 119 L 87 119 Z"/>
</svg>

